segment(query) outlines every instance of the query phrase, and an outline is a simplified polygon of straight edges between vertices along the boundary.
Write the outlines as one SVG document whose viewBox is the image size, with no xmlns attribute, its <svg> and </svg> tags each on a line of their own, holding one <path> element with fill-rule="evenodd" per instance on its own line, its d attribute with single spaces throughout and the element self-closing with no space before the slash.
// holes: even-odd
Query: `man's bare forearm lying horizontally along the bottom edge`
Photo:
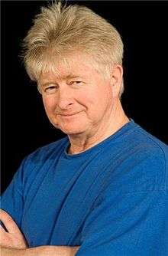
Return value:
<svg viewBox="0 0 168 256">
<path fill-rule="evenodd" d="M 27 249 L 1 248 L 1 256 L 74 256 L 79 247 L 40 246 Z"/>
</svg>

